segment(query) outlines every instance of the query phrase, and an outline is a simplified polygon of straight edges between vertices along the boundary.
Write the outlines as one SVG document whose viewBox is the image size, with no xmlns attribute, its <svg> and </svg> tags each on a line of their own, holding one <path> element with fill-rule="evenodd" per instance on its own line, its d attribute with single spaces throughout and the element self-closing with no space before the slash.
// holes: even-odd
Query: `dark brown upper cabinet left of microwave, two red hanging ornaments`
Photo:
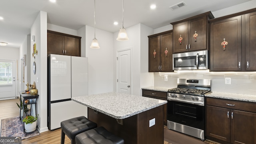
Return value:
<svg viewBox="0 0 256 144">
<path fill-rule="evenodd" d="M 148 72 L 172 72 L 172 30 L 148 36 L 148 47 Z"/>
</svg>

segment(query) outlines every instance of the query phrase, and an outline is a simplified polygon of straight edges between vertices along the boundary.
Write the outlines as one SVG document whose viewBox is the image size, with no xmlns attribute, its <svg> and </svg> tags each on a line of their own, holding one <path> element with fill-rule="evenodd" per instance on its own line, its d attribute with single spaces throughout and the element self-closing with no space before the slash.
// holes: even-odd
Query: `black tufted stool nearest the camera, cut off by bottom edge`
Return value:
<svg viewBox="0 0 256 144">
<path fill-rule="evenodd" d="M 124 140 L 98 127 L 76 135 L 76 144 L 124 144 Z"/>
</svg>

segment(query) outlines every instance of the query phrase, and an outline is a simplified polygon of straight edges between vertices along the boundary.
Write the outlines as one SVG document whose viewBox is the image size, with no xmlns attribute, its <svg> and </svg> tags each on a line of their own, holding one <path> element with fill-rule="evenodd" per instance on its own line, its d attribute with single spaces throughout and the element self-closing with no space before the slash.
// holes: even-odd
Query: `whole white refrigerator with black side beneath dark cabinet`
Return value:
<svg viewBox="0 0 256 144">
<path fill-rule="evenodd" d="M 48 55 L 47 125 L 60 128 L 60 122 L 78 116 L 87 117 L 87 107 L 71 100 L 88 95 L 88 58 Z"/>
</svg>

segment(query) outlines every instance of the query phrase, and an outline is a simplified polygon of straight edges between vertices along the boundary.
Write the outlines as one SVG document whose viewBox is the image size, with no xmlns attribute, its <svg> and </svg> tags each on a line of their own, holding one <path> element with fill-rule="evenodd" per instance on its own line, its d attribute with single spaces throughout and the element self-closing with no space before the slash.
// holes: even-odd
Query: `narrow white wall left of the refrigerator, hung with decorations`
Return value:
<svg viewBox="0 0 256 144">
<path fill-rule="evenodd" d="M 40 11 L 36 20 L 32 24 L 31 36 L 35 36 L 35 42 L 30 44 L 30 56 L 33 53 L 33 44 L 36 43 L 38 54 L 34 55 L 35 58 L 30 60 L 30 68 L 32 71 L 33 62 L 36 62 L 36 74 L 31 72 L 30 84 L 36 82 L 38 89 L 38 130 L 44 132 L 48 130 L 47 127 L 47 13 Z M 38 78 L 38 82 L 37 82 Z"/>
</svg>

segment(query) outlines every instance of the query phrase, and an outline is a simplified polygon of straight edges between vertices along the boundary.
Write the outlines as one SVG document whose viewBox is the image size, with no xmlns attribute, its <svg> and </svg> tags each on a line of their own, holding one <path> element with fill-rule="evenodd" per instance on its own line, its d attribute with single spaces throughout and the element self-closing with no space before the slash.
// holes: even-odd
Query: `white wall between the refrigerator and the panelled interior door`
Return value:
<svg viewBox="0 0 256 144">
<path fill-rule="evenodd" d="M 88 58 L 88 94 L 113 92 L 113 33 L 96 29 L 99 49 L 90 48 L 94 28 L 86 26 L 86 57 Z"/>
</svg>

